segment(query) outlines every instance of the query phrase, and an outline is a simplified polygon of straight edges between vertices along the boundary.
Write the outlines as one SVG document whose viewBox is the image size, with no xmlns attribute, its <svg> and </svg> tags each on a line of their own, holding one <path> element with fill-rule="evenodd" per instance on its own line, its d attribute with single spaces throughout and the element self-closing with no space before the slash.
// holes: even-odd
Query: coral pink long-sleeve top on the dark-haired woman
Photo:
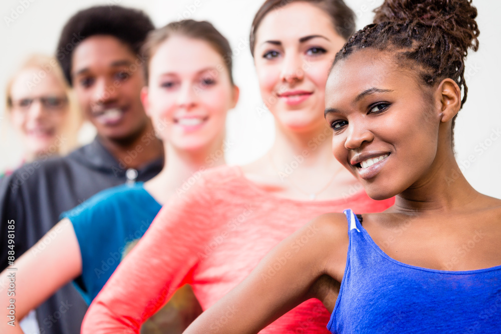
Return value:
<svg viewBox="0 0 501 334">
<path fill-rule="evenodd" d="M 246 179 L 241 168 L 227 166 L 205 173 L 177 197 L 160 210 L 94 299 L 82 333 L 139 333 L 141 324 L 185 283 L 207 309 L 316 216 L 345 208 L 380 212 L 394 203 L 394 198 L 372 200 L 363 189 L 328 201 L 280 198 Z M 329 333 L 329 317 L 319 300 L 310 299 L 261 333 Z"/>
</svg>

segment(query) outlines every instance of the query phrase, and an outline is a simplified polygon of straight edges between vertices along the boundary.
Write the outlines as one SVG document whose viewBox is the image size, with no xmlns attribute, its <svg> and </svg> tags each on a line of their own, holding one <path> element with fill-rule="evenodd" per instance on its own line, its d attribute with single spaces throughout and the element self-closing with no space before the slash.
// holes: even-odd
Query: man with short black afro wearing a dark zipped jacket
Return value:
<svg viewBox="0 0 501 334">
<path fill-rule="evenodd" d="M 153 29 L 144 13 L 119 6 L 89 8 L 67 22 L 56 57 L 97 136 L 66 157 L 43 157 L 2 180 L 0 270 L 15 267 L 62 212 L 106 188 L 147 181 L 162 169 L 163 145 L 140 101 L 145 84 L 140 47 Z M 13 233 L 4 233 L 8 230 Z M 0 283 L 0 290 L 6 289 Z M 86 310 L 80 293 L 67 284 L 37 308 L 40 332 L 80 332 Z"/>
</svg>

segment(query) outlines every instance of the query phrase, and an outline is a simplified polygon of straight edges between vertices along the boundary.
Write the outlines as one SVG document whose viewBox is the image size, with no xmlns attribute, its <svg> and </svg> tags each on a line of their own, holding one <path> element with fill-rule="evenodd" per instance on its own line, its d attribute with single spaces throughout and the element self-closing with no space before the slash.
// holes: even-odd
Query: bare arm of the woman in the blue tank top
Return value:
<svg viewBox="0 0 501 334">
<path fill-rule="evenodd" d="M 332 293 L 319 289 L 317 282 L 325 281 L 332 268 L 344 270 L 346 252 L 344 258 L 336 257 L 347 247 L 346 232 L 344 215 L 317 217 L 276 246 L 185 333 L 257 333 L 309 298 L 332 299 Z"/>
</svg>

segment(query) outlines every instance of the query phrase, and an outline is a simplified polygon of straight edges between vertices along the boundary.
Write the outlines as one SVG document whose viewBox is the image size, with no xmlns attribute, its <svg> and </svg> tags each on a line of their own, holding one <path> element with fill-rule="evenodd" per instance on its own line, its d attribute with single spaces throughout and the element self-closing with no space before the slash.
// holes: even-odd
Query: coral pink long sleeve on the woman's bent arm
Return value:
<svg viewBox="0 0 501 334">
<path fill-rule="evenodd" d="M 139 333 L 184 283 L 215 228 L 214 203 L 203 183 L 200 179 L 189 193 L 174 195 L 160 210 L 90 305 L 82 333 Z"/>
</svg>

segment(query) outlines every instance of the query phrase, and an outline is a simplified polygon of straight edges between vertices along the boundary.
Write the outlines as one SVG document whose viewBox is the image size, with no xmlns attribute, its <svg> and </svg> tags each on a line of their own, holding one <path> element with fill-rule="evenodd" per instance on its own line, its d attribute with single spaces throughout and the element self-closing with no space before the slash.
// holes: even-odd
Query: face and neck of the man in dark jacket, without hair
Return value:
<svg viewBox="0 0 501 334">
<path fill-rule="evenodd" d="M 71 80 L 83 112 L 101 144 L 126 168 L 158 158 L 162 150 L 138 93 L 144 86 L 142 63 L 113 36 L 89 37 L 73 52 Z"/>
</svg>

